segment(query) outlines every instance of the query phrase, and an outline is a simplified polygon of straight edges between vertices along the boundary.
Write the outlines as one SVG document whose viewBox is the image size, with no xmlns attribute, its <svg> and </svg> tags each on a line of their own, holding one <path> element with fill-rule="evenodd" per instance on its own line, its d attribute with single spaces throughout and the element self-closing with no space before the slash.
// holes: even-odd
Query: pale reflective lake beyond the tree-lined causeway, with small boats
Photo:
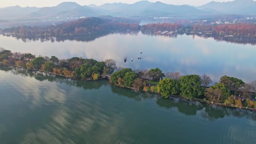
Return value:
<svg viewBox="0 0 256 144">
<path fill-rule="evenodd" d="M 114 59 L 117 66 L 134 70 L 158 67 L 165 73 L 207 74 L 214 82 L 223 75 L 245 82 L 256 80 L 255 38 L 113 32 L 31 39 L 0 36 L 0 47 L 37 56 L 54 55 L 60 59 L 75 56 L 97 61 Z M 138 56 L 142 59 L 137 60 Z M 128 59 L 127 63 L 124 58 Z"/>
</svg>

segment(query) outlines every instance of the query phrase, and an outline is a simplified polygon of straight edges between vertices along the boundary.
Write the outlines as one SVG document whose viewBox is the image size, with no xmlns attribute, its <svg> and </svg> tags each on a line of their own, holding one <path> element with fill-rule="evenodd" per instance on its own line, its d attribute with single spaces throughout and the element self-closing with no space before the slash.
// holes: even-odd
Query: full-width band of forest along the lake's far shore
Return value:
<svg viewBox="0 0 256 144">
<path fill-rule="evenodd" d="M 256 25 L 239 22 L 235 24 L 194 24 L 188 21 L 172 23 L 149 23 L 139 25 L 138 21 L 126 18 L 95 18 L 88 17 L 68 21 L 58 25 L 41 27 L 21 26 L 0 29 L 3 35 L 15 36 L 70 36 L 99 34 L 111 30 L 150 30 L 150 31 L 179 31 L 183 33 L 202 33 L 226 36 L 256 37 Z"/>
</svg>

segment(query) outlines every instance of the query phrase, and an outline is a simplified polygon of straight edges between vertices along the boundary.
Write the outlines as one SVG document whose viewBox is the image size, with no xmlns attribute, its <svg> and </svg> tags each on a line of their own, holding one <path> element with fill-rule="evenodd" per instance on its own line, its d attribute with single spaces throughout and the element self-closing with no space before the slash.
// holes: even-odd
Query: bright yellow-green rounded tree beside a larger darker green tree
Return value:
<svg viewBox="0 0 256 144">
<path fill-rule="evenodd" d="M 170 95 L 176 95 L 179 92 L 179 85 L 174 79 L 164 78 L 160 80 L 157 86 L 164 98 L 169 98 Z"/>
</svg>

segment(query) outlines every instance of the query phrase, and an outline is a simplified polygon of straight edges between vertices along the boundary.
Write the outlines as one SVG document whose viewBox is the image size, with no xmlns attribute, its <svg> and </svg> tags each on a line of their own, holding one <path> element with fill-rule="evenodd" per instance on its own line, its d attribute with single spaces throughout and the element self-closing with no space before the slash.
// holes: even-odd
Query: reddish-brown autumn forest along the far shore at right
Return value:
<svg viewBox="0 0 256 144">
<path fill-rule="evenodd" d="M 213 34 L 224 34 L 233 36 L 253 36 L 256 37 L 256 24 L 220 24 L 220 25 L 199 25 L 191 26 L 183 24 L 170 23 L 151 23 L 141 26 L 141 30 L 153 31 L 182 31 L 190 32 L 206 32 Z"/>
</svg>

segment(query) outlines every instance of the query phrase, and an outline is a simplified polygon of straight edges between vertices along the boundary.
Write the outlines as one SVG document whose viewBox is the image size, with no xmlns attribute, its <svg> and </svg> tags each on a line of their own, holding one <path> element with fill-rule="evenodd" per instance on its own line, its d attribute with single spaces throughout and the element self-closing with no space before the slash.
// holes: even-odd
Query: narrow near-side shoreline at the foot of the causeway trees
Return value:
<svg viewBox="0 0 256 144">
<path fill-rule="evenodd" d="M 47 74 L 52 74 L 54 76 L 60 76 L 60 77 L 65 77 L 65 78 L 68 78 L 68 79 L 73 79 L 73 80 L 80 80 L 80 81 L 98 81 L 98 80 L 103 80 L 103 79 L 107 79 L 109 84 L 112 85 L 110 83 L 110 80 L 108 79 L 108 77 L 106 76 L 105 78 L 101 76 L 100 79 L 98 80 L 93 80 L 93 79 L 86 79 L 86 80 L 82 80 L 82 79 L 76 79 L 74 77 L 70 77 L 70 76 L 65 76 L 65 75 L 60 75 L 60 74 L 54 74 L 52 72 L 49 72 L 49 71 L 43 71 L 43 70 L 37 70 L 37 69 L 32 69 L 32 70 L 28 70 L 26 68 L 23 68 L 23 67 L 19 67 L 19 66 L 16 66 L 16 65 L 4 65 L 4 66 L 8 66 L 8 67 L 14 67 L 14 68 L 20 68 L 20 69 L 24 69 L 24 70 L 27 70 L 27 71 L 37 71 L 37 72 L 41 72 L 41 73 L 47 73 Z M 115 85 L 112 85 L 112 86 L 115 86 Z M 127 87 L 121 87 L 121 86 L 116 86 L 116 87 L 119 87 L 119 88 L 125 88 L 125 89 L 131 89 L 131 90 L 134 90 L 136 92 L 140 91 L 140 92 L 149 92 L 151 94 L 156 94 L 156 95 L 159 95 L 161 96 L 158 92 L 155 92 L 155 91 L 144 91 L 143 89 L 138 89 L 138 90 L 135 90 L 135 88 L 127 88 Z M 161 96 L 162 97 L 162 96 Z M 239 107 L 237 107 L 236 105 L 231 105 L 231 104 L 223 104 L 223 103 L 218 103 L 218 102 L 210 102 L 210 101 L 207 101 L 207 100 L 204 100 L 204 99 L 199 99 L 199 98 L 192 98 L 192 99 L 189 99 L 189 98 L 186 98 L 184 96 L 181 96 L 181 95 L 170 95 L 168 99 L 170 99 L 171 97 L 173 98 L 180 98 L 180 99 L 186 99 L 188 101 L 197 101 L 197 102 L 202 102 L 202 103 L 205 103 L 205 104 L 210 104 L 210 105 L 217 105 L 217 106 L 221 106 L 221 107 L 230 107 L 230 108 L 235 108 L 235 109 L 240 109 Z M 243 110 L 250 110 L 250 111 L 256 111 L 256 108 L 248 108 L 248 107 L 241 107 L 241 109 Z"/>
</svg>

